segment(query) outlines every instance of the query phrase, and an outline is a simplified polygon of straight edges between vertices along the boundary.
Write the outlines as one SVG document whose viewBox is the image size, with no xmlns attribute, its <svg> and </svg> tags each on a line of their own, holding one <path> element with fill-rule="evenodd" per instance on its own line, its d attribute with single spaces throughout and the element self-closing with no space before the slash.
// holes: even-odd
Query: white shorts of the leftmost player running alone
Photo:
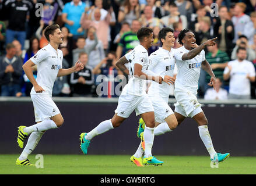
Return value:
<svg viewBox="0 0 256 186">
<path fill-rule="evenodd" d="M 36 122 L 49 119 L 61 113 L 48 94 L 31 94 L 31 99 L 34 105 L 34 117 Z"/>
</svg>

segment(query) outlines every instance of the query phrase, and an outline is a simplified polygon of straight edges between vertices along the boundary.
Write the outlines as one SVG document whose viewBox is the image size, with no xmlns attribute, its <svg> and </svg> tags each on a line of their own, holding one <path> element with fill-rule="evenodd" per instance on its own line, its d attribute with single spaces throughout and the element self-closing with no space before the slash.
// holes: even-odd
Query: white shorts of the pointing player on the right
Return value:
<svg viewBox="0 0 256 186">
<path fill-rule="evenodd" d="M 174 104 L 175 112 L 184 117 L 194 117 L 202 112 L 201 104 L 197 101 L 197 95 L 188 90 L 174 89 L 174 96 L 177 102 Z"/>
</svg>

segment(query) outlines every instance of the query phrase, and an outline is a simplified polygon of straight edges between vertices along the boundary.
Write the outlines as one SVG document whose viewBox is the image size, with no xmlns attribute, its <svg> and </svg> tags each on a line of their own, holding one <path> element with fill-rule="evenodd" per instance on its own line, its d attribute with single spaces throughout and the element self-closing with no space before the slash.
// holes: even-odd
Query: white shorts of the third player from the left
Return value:
<svg viewBox="0 0 256 186">
<path fill-rule="evenodd" d="M 152 102 L 155 113 L 155 121 L 157 123 L 163 123 L 166 117 L 173 115 L 173 110 L 171 110 L 168 105 L 169 98 L 162 98 L 160 96 L 149 96 Z"/>
</svg>

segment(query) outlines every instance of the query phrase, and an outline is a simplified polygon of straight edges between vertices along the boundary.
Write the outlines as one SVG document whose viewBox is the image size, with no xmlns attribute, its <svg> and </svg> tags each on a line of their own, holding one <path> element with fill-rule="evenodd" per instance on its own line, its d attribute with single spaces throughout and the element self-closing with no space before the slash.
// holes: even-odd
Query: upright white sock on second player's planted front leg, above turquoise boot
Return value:
<svg viewBox="0 0 256 186">
<path fill-rule="evenodd" d="M 155 128 L 149 128 L 145 126 L 144 130 L 144 141 L 145 141 L 145 157 L 149 158 L 152 156 L 152 146 L 154 142 L 154 129 Z"/>
</svg>

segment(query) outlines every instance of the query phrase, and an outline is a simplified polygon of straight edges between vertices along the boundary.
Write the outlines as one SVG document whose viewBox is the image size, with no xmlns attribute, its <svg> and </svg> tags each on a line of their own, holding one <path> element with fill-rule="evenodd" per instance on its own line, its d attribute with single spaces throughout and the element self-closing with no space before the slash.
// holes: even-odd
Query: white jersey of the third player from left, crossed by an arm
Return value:
<svg viewBox="0 0 256 186">
<path fill-rule="evenodd" d="M 175 59 L 174 59 L 175 49 L 167 51 L 160 47 L 157 51 L 151 53 L 149 56 L 149 70 L 152 70 L 154 73 L 159 74 L 161 77 L 168 75 L 173 77 Z M 160 97 L 169 97 L 171 88 L 173 84 L 169 85 L 165 82 L 162 84 L 152 81 L 152 84 L 149 87 L 148 95 L 149 96 L 160 96 Z"/>
</svg>

